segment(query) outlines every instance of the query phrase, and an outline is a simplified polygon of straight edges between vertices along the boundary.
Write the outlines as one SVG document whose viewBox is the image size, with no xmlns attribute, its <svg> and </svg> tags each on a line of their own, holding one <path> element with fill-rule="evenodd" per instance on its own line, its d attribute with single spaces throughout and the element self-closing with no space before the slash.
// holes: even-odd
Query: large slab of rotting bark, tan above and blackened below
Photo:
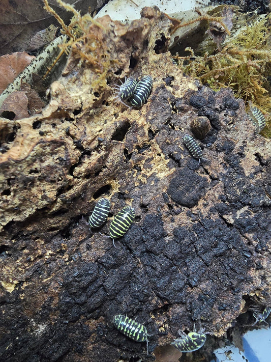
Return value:
<svg viewBox="0 0 271 362">
<path fill-rule="evenodd" d="M 249 300 L 271 304 L 269 140 L 230 90 L 172 64 L 157 8 L 130 25 L 98 21 L 89 42 L 101 43 L 100 63 L 80 62 L 74 47 L 42 115 L 1 123 L 6 361 L 153 360 L 113 327 L 115 314 L 137 317 L 153 352 L 194 322 L 222 336 Z M 139 110 L 114 100 L 131 74 L 154 78 Z M 199 168 L 183 144 L 198 116 L 212 125 Z M 136 211 L 117 248 L 109 221 L 101 234 L 86 222 L 102 196 L 111 216 Z"/>
</svg>

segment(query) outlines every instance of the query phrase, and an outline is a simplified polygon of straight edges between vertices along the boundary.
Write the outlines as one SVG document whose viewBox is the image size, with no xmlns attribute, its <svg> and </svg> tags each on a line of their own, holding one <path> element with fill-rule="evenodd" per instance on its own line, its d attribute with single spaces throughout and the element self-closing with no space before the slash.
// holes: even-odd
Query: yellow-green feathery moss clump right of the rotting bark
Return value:
<svg viewBox="0 0 271 362">
<path fill-rule="evenodd" d="M 263 112 L 271 111 L 271 87 L 268 82 L 271 66 L 271 15 L 258 21 L 251 21 L 235 36 L 230 38 L 219 52 L 205 52 L 195 55 L 193 49 L 188 57 L 178 57 L 184 72 L 198 77 L 202 83 L 219 90 L 230 87 L 236 98 L 243 98 L 246 104 L 252 101 Z M 267 125 L 271 124 L 270 117 Z M 271 137 L 268 126 L 262 131 Z"/>
</svg>

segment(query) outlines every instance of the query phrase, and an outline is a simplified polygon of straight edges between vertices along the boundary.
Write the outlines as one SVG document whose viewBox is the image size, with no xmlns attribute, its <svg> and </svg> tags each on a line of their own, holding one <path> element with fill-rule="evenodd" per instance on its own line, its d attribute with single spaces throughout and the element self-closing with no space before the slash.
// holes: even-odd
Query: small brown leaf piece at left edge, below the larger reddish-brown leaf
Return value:
<svg viewBox="0 0 271 362">
<path fill-rule="evenodd" d="M 12 117 L 12 119 L 15 121 L 28 118 L 27 103 L 28 99 L 25 92 L 14 91 L 3 102 L 0 108 L 0 114 L 3 112 L 13 112 L 15 116 Z"/>
</svg>

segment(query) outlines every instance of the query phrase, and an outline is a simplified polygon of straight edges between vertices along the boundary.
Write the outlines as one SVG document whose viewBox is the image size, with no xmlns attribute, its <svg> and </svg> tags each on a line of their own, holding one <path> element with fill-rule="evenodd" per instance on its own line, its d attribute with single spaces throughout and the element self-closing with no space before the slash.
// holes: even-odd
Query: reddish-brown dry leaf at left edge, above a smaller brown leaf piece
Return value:
<svg viewBox="0 0 271 362">
<path fill-rule="evenodd" d="M 11 83 L 34 58 L 35 57 L 25 52 L 16 52 L 0 57 L 0 93 L 7 88 L 9 83 Z"/>
</svg>

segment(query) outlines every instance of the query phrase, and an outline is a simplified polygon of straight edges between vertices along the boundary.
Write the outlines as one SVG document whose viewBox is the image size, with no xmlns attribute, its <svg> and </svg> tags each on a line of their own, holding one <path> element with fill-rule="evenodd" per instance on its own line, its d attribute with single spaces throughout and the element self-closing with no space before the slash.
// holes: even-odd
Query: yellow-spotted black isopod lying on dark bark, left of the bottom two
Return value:
<svg viewBox="0 0 271 362">
<path fill-rule="evenodd" d="M 148 333 L 145 326 L 122 314 L 115 315 L 112 323 L 117 328 L 117 330 L 132 340 L 136 342 L 147 342 L 148 354 Z"/>
</svg>

